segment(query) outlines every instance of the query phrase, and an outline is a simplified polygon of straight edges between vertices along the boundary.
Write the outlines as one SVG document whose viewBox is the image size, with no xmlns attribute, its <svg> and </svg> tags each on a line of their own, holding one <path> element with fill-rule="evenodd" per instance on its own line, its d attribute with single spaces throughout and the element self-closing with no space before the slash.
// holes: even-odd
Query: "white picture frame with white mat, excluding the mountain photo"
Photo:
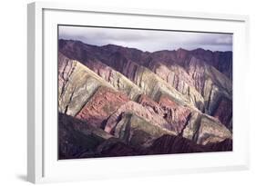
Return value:
<svg viewBox="0 0 256 186">
<path fill-rule="evenodd" d="M 170 10 L 88 7 L 85 4 L 36 2 L 27 8 L 27 180 L 83 181 L 127 176 L 249 169 L 249 119 L 246 68 L 249 64 L 249 17 Z M 104 15 L 104 16 L 103 16 Z M 143 25 L 141 25 L 143 21 Z M 233 152 L 171 154 L 58 161 L 56 140 L 57 24 L 161 27 L 227 32 L 233 43 Z M 50 66 L 49 63 L 53 65 Z M 239 75 L 239 74 L 243 75 Z M 241 110 L 240 108 L 243 108 Z M 244 127 L 246 126 L 246 127 Z M 150 163 L 149 163 L 150 162 Z M 136 165 L 136 166 L 135 166 Z M 105 169 L 108 167 L 108 169 Z M 75 171 L 76 170 L 76 171 Z"/>
</svg>

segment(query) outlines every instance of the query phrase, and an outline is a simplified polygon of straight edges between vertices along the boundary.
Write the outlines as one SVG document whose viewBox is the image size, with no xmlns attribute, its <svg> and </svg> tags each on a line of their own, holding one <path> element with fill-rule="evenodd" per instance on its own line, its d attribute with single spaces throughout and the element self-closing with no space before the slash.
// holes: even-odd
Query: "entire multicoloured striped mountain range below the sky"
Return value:
<svg viewBox="0 0 256 186">
<path fill-rule="evenodd" d="M 207 61 L 211 54 L 200 49 L 148 53 L 60 40 L 59 114 L 74 126 L 77 121 L 97 129 L 96 136 L 78 138 L 95 139 L 89 152 L 74 156 L 70 150 L 62 157 L 231 151 L 232 79 L 225 74 L 229 68 L 221 73 L 211 65 L 220 62 Z M 87 135 L 81 127 L 59 130 Z M 98 141 L 97 132 L 109 138 Z M 78 151 L 77 140 L 61 136 Z M 168 143 L 184 146 L 167 148 Z"/>
</svg>

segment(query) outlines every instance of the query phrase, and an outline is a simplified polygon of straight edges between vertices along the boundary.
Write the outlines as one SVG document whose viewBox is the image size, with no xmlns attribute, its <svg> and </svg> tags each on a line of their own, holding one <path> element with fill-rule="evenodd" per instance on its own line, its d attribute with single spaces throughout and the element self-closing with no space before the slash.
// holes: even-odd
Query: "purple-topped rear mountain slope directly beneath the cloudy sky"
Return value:
<svg viewBox="0 0 256 186">
<path fill-rule="evenodd" d="M 220 122 L 231 129 L 232 112 L 228 108 L 232 101 L 230 52 L 179 49 L 150 54 L 113 44 L 98 47 L 71 40 L 60 40 L 59 51 L 87 65 L 116 87 L 128 84 L 128 78 L 133 83 L 123 89 L 133 90 L 130 97 L 134 100 L 140 90 L 154 100 L 163 92 L 180 99 L 180 93 L 186 102 L 216 118 L 220 119 L 221 110 L 229 110 L 229 116 Z M 127 77 L 121 78 L 126 79 L 125 82 L 117 78 L 120 73 Z M 115 79 L 116 83 L 113 83 Z M 225 103 L 218 108 L 222 100 Z"/>
</svg>

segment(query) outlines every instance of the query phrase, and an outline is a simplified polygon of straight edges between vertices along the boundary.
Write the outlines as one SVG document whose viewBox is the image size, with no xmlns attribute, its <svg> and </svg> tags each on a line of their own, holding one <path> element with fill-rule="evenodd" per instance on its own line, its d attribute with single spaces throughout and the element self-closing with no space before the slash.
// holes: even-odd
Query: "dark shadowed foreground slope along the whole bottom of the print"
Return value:
<svg viewBox="0 0 256 186">
<path fill-rule="evenodd" d="M 138 118 L 135 118 L 136 120 Z M 139 119 L 138 119 L 139 120 Z M 133 127 L 131 138 L 119 133 L 116 136 L 104 132 L 87 122 L 80 121 L 64 113 L 58 114 L 58 158 L 97 158 L 147 154 L 171 154 L 191 152 L 225 152 L 232 151 L 232 141 L 200 145 L 186 138 L 169 135 L 161 131 L 149 133 Z M 140 123 L 143 121 L 140 121 Z M 133 122 L 136 124 L 136 122 Z M 147 126 L 147 125 L 146 125 Z M 150 129 L 150 128 L 148 128 Z M 143 135 L 136 135 L 141 134 Z M 160 137 L 158 138 L 158 136 Z M 144 146 L 141 146 L 143 144 Z"/>
</svg>

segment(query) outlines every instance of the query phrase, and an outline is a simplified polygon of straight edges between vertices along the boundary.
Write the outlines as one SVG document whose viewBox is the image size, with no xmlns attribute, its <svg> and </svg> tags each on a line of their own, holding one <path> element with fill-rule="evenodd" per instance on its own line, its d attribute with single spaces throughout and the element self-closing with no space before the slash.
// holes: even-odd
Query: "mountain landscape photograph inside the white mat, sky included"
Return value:
<svg viewBox="0 0 256 186">
<path fill-rule="evenodd" d="M 233 34 L 58 24 L 57 43 L 58 160 L 233 151 Z"/>
</svg>

